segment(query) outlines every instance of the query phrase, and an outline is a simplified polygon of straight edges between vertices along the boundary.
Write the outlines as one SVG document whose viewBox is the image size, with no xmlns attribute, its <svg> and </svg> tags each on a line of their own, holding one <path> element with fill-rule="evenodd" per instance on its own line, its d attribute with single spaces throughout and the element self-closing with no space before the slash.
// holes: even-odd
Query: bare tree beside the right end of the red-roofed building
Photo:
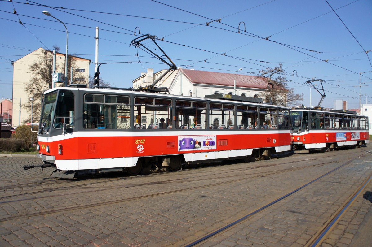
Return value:
<svg viewBox="0 0 372 247">
<path fill-rule="evenodd" d="M 267 90 L 262 94 L 266 102 L 272 101 L 273 105 L 296 105 L 304 100 L 303 94 L 296 94 L 294 88 L 288 88 L 285 71 L 282 64 L 275 68 L 260 70 L 261 76 L 267 79 Z"/>
</svg>

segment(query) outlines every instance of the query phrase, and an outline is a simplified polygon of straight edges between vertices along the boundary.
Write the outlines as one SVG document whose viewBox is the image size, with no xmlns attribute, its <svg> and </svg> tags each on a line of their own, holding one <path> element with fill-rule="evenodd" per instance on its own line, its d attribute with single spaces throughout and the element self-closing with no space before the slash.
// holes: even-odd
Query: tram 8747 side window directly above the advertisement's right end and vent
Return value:
<svg viewBox="0 0 372 247">
<path fill-rule="evenodd" d="M 235 129 L 234 105 L 209 104 L 209 128 L 210 129 Z"/>
</svg>

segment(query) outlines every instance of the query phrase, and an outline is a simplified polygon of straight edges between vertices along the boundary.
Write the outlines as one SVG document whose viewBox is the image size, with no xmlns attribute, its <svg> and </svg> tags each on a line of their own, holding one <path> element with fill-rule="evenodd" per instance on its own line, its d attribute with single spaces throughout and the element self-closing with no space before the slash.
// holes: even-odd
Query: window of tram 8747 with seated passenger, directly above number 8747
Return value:
<svg viewBox="0 0 372 247">
<path fill-rule="evenodd" d="M 172 100 L 163 98 L 134 98 L 133 127 L 135 129 L 171 129 Z"/>
</svg>

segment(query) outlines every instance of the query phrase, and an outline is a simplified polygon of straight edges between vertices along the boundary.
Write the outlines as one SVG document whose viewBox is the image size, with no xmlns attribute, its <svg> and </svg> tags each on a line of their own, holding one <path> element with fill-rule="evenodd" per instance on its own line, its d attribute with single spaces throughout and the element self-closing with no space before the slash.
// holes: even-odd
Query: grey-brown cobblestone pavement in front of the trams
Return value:
<svg viewBox="0 0 372 247">
<path fill-rule="evenodd" d="M 36 158 L 0 157 L 0 246 L 185 246 L 367 151 L 74 180 L 50 178 L 52 168 L 22 169 L 38 164 Z M 199 246 L 306 246 L 368 178 L 371 157 L 359 157 Z M 366 223 L 368 191 L 371 183 L 321 246 L 360 243 L 359 233 L 372 224 Z"/>
</svg>

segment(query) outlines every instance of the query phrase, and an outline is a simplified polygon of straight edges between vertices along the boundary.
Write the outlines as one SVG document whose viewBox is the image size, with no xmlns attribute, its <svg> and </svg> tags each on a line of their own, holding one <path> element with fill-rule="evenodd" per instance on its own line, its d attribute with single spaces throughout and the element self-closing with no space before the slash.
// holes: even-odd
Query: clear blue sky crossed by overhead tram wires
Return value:
<svg viewBox="0 0 372 247">
<path fill-rule="evenodd" d="M 323 107 L 347 100 L 348 108 L 359 108 L 359 89 L 361 103 L 372 103 L 372 51 L 365 52 L 372 50 L 370 0 L 0 0 L 0 98 L 12 98 L 11 61 L 39 47 L 57 45 L 65 52 L 63 25 L 43 10 L 66 24 L 68 53 L 92 62 L 100 28 L 99 62 L 121 62 L 101 65 L 100 77 L 115 87 L 131 87 L 147 68 L 168 69 L 129 47 L 139 27 L 141 34 L 164 37 L 158 45 L 181 68 L 232 74 L 243 68 L 237 74 L 257 75 L 282 63 L 288 86 L 304 94 L 304 105 L 310 104 L 305 81 L 312 78 L 326 81 Z M 238 33 L 240 22 L 246 32 L 241 24 Z M 320 94 L 311 94 L 317 105 Z"/>
</svg>

